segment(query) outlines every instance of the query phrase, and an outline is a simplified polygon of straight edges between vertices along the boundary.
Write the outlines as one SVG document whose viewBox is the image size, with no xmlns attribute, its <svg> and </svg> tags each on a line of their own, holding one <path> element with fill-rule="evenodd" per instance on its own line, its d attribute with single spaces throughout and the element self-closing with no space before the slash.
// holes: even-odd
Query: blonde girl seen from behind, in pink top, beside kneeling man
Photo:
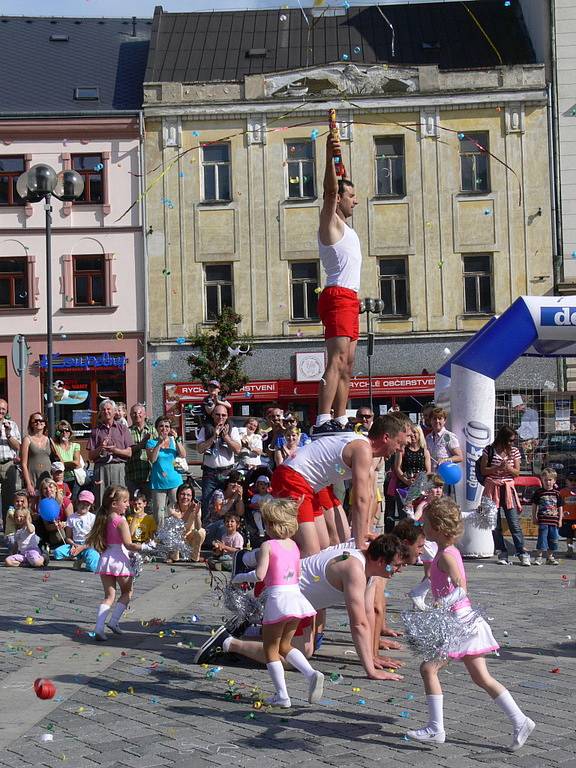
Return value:
<svg viewBox="0 0 576 768">
<path fill-rule="evenodd" d="M 308 680 L 308 701 L 322 698 L 324 675 L 314 670 L 308 659 L 292 647 L 292 638 L 302 619 L 316 615 L 300 592 L 300 550 L 291 537 L 298 530 L 298 505 L 291 499 L 273 499 L 262 504 L 262 519 L 270 537 L 258 551 L 256 570 L 242 574 L 243 581 L 263 581 L 265 590 L 262 640 L 266 667 L 276 693 L 266 700 L 272 707 L 291 706 L 284 677 L 285 659 Z"/>
</svg>

